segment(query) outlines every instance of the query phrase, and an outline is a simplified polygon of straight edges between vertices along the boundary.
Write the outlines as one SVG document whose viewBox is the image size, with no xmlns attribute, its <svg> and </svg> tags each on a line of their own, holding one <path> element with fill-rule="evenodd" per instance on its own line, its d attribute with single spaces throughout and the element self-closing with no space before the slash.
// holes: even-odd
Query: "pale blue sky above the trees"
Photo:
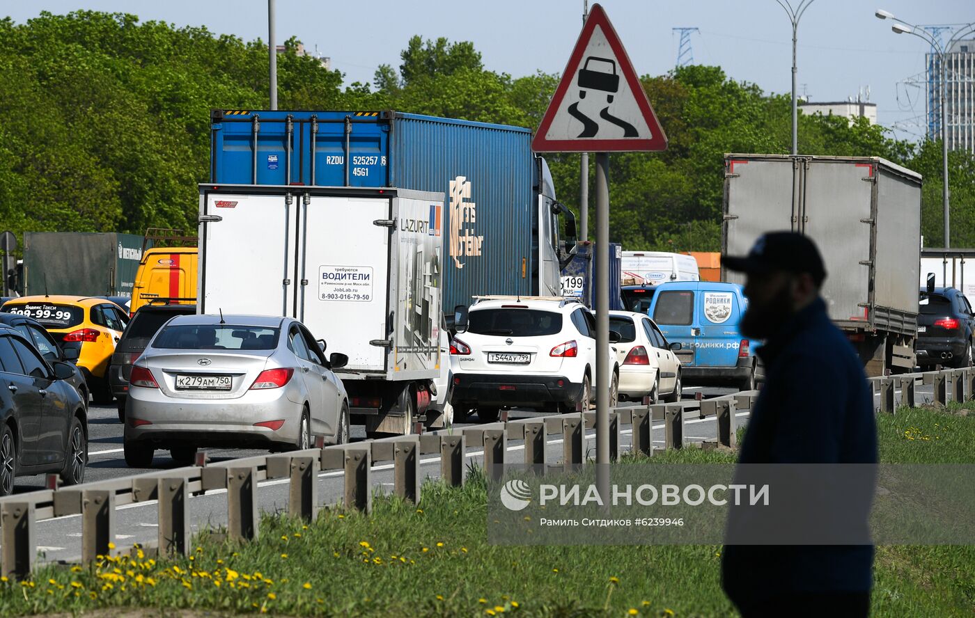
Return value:
<svg viewBox="0 0 975 618">
<path fill-rule="evenodd" d="M 797 4 L 799 0 L 792 0 Z M 578 36 L 582 0 L 276 0 L 277 38 L 295 35 L 318 47 L 346 83 L 371 82 L 381 63 L 398 66 L 409 37 L 446 36 L 473 41 L 487 68 L 513 76 L 562 72 Z M 604 0 L 601 3 L 640 73 L 662 74 L 677 58 L 676 26 L 696 26 L 691 38 L 698 63 L 718 64 L 732 78 L 766 92 L 791 88 L 792 27 L 775 0 Z M 33 0 L 8 3 L 0 16 L 22 22 L 41 11 L 77 9 L 126 12 L 142 20 L 206 25 L 245 40 L 267 40 L 266 0 Z M 799 92 L 812 100 L 844 100 L 870 87 L 878 119 L 900 138 L 916 138 L 924 112 L 921 93 L 898 82 L 920 74 L 928 46 L 897 35 L 885 9 L 918 24 L 975 21 L 971 0 L 814 0 L 800 22 Z M 911 105 L 914 105 L 912 110 Z"/>
</svg>

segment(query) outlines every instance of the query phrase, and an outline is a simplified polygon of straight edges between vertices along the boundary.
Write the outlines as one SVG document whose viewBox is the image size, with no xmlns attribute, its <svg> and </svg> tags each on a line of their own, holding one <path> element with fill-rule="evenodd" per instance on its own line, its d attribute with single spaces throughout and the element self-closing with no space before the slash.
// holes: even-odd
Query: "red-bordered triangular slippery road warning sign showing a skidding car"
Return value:
<svg viewBox="0 0 975 618">
<path fill-rule="evenodd" d="M 531 147 L 536 152 L 667 149 L 667 135 L 598 4 L 582 26 Z"/>
</svg>

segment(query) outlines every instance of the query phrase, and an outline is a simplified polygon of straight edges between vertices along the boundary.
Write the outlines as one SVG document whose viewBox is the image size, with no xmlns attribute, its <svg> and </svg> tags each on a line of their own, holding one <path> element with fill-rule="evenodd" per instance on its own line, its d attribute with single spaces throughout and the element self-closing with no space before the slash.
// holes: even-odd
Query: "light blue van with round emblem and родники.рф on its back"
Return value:
<svg viewBox="0 0 975 618">
<path fill-rule="evenodd" d="M 738 324 L 748 307 L 742 287 L 707 281 L 656 286 L 647 315 L 668 341 L 681 342 L 683 384 L 731 384 L 756 388 L 758 341 L 741 335 Z"/>
</svg>

